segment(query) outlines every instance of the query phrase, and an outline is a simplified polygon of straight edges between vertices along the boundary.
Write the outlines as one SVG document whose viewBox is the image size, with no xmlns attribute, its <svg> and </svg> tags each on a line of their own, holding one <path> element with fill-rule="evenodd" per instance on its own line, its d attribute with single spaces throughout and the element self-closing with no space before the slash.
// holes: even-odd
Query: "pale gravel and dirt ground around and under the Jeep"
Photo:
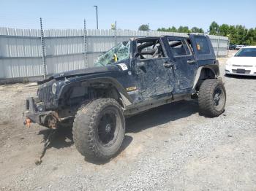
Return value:
<svg viewBox="0 0 256 191">
<path fill-rule="evenodd" d="M 131 117 L 104 164 L 86 162 L 67 129 L 35 165 L 49 130 L 25 128 L 22 113 L 37 85 L 0 86 L 0 190 L 256 190 L 256 78 L 224 77 L 226 60 L 224 114 L 206 118 L 181 101 Z"/>
</svg>

